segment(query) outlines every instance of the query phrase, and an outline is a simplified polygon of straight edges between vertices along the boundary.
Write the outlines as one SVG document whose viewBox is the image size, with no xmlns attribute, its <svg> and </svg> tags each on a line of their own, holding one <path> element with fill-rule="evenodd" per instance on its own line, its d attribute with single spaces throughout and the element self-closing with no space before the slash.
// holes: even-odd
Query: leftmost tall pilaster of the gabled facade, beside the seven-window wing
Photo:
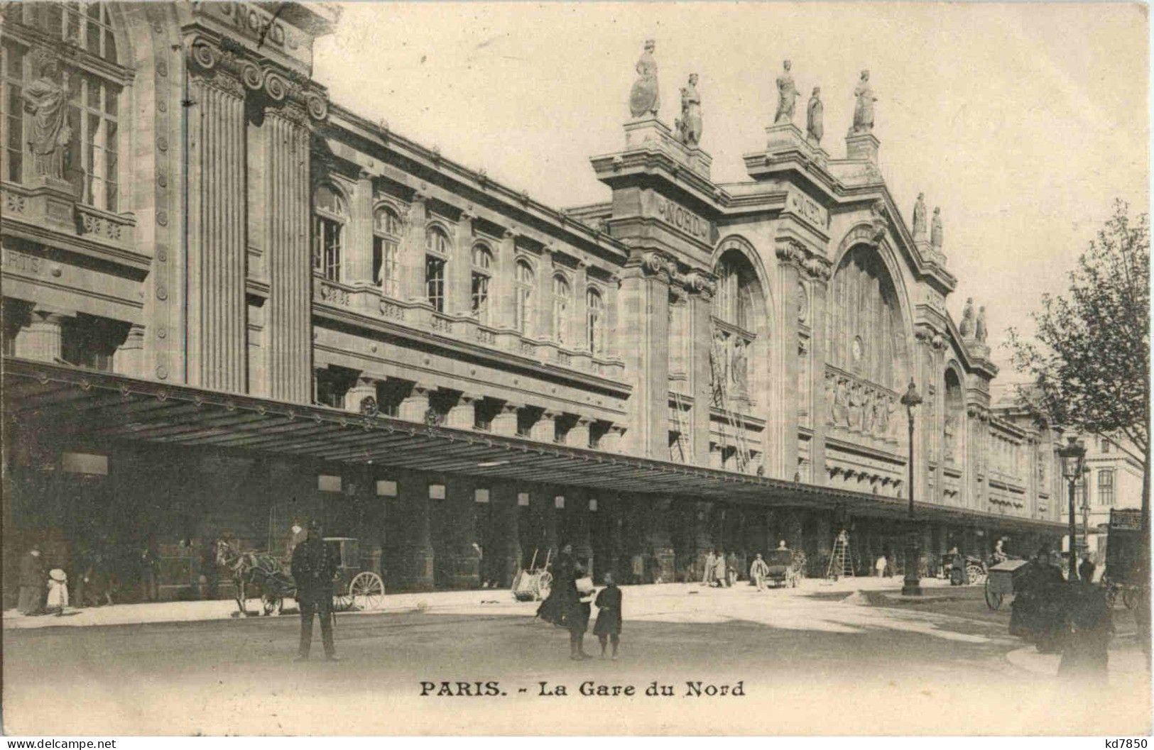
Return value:
<svg viewBox="0 0 1154 750">
<path fill-rule="evenodd" d="M 619 335 L 629 398 L 622 452 L 649 458 L 669 453 L 669 268 L 657 253 L 630 261 L 622 273 Z"/>
</svg>

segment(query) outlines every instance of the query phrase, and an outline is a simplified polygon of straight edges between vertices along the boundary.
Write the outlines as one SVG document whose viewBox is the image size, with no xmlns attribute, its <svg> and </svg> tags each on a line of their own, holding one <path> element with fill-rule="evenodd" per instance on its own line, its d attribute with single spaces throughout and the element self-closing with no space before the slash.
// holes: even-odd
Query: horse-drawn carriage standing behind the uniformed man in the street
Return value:
<svg viewBox="0 0 1154 750">
<path fill-rule="evenodd" d="M 384 603 L 384 582 L 375 571 L 365 570 L 360 561 L 360 543 L 349 537 L 325 537 L 324 543 L 339 555 L 339 565 L 332 577 L 332 609 L 379 609 Z M 271 553 L 247 552 L 233 548 L 226 540 L 217 541 L 217 563 L 232 571 L 240 615 L 248 615 L 245 607 L 247 591 L 261 591 L 261 608 L 265 615 L 280 614 L 285 599 L 297 597 L 287 560 Z"/>
</svg>

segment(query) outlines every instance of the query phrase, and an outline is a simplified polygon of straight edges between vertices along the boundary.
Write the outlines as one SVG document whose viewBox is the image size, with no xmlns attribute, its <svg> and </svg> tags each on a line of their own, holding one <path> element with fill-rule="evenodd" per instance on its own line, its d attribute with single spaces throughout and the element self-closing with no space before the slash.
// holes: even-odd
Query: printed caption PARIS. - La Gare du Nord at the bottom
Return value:
<svg viewBox="0 0 1154 750">
<path fill-rule="evenodd" d="M 713 698 L 713 697 L 744 697 L 745 683 L 737 681 L 733 684 L 714 684 L 699 680 L 687 680 L 684 683 L 661 684 L 657 680 L 647 685 L 606 684 L 594 680 L 586 680 L 574 690 L 570 685 L 538 682 L 533 688 L 510 688 L 507 690 L 497 680 L 488 682 L 452 682 L 448 680 L 439 682 L 420 682 L 420 695 L 424 697 L 466 697 L 466 698 L 489 698 L 508 696 L 512 691 L 516 695 L 534 697 L 561 697 L 561 696 L 589 696 L 589 697 L 616 697 L 616 696 L 646 696 L 650 698 Z"/>
</svg>

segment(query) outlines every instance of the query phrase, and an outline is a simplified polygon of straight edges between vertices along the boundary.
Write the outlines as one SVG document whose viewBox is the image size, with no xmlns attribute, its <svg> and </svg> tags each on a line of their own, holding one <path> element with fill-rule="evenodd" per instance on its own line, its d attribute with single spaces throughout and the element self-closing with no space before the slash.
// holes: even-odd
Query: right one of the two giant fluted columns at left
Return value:
<svg viewBox="0 0 1154 750">
<path fill-rule="evenodd" d="M 294 104 L 269 107 L 263 127 L 269 130 L 269 300 L 264 305 L 269 397 L 308 403 L 313 390 L 313 278 L 307 115 Z M 243 250 L 243 246 L 238 250 L 241 262 Z"/>
</svg>

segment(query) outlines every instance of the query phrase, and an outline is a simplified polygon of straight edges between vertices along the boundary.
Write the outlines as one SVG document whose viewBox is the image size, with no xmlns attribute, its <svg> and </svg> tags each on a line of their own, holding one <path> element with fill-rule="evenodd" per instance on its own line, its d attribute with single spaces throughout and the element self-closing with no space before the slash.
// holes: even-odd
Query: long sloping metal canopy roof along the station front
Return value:
<svg viewBox="0 0 1154 750">
<path fill-rule="evenodd" d="M 477 430 L 366 417 L 327 406 L 144 381 L 3 358 L 5 414 L 14 427 L 99 442 L 255 451 L 349 464 L 569 485 L 624 493 L 742 501 L 766 507 L 842 507 L 902 518 L 900 498 L 540 443 Z M 1061 532 L 1056 522 L 916 503 L 922 518 Z"/>
</svg>

